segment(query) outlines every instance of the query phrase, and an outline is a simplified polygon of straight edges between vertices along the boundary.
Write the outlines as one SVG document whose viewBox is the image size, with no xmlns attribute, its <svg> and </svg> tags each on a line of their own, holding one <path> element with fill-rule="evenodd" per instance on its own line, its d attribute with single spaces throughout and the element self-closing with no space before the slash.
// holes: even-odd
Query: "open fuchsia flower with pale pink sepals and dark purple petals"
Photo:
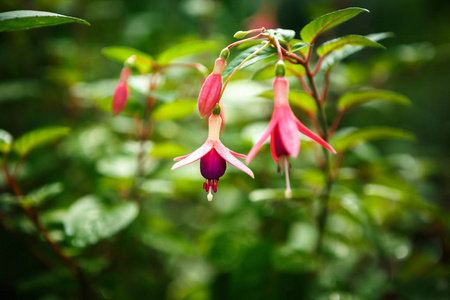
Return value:
<svg viewBox="0 0 450 300">
<path fill-rule="evenodd" d="M 206 179 L 203 188 L 208 192 L 208 200 L 212 201 L 212 192 L 217 192 L 217 183 L 227 168 L 227 162 L 254 178 L 253 172 L 236 157 L 245 158 L 225 147 L 219 139 L 222 118 L 218 114 L 209 117 L 209 134 L 206 142 L 191 154 L 176 157 L 178 161 L 172 170 L 183 167 L 200 159 L 200 172 Z"/>
</svg>

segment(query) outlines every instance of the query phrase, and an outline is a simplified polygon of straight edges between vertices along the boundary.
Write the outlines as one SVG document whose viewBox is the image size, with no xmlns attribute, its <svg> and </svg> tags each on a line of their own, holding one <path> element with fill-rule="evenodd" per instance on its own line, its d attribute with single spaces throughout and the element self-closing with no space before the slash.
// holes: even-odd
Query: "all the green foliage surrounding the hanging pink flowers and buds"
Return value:
<svg viewBox="0 0 450 300">
<path fill-rule="evenodd" d="M 241 2 L 41 1 L 42 10 L 85 11 L 92 26 L 33 12 L 14 19 L 17 29 L 73 24 L 0 33 L 2 297 L 449 298 L 447 102 L 437 102 L 446 52 L 438 60 L 431 46 L 398 46 L 412 30 L 434 38 L 404 7 L 382 15 L 387 4 L 374 3 L 369 15 L 311 3 L 299 11 L 318 18 L 293 19 L 303 29 L 245 29 L 235 37 L 262 36 L 231 41 L 222 142 L 247 153 L 266 128 L 276 39 L 289 58 L 293 112 L 337 150 L 324 156 L 302 135 L 290 160 L 292 199 L 268 146 L 249 165 L 255 179 L 228 165 L 212 202 L 198 162 L 170 170 L 208 136 L 196 112 L 203 64 L 212 70 L 242 29 L 233 20 L 255 11 Z M 387 21 L 405 15 L 406 31 Z M 11 20 L 0 17 L 0 28 Z M 131 71 L 128 100 L 111 117 L 122 66 Z"/>
</svg>

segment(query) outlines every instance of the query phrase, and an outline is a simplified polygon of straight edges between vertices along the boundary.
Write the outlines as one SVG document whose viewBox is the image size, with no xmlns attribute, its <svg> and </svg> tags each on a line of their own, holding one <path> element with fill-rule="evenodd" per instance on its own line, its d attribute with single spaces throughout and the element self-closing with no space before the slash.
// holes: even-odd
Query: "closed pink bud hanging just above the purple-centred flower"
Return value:
<svg viewBox="0 0 450 300">
<path fill-rule="evenodd" d="M 209 116 L 214 106 L 220 101 L 222 91 L 222 73 L 225 59 L 219 57 L 214 64 L 214 71 L 206 77 L 198 96 L 198 111 L 202 118 Z"/>
</svg>

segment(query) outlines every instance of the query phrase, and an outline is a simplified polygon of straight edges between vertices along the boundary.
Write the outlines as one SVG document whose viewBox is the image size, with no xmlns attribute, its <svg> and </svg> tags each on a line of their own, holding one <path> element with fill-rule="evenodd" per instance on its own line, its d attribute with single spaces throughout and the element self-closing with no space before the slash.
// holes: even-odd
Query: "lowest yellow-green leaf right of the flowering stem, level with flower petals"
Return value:
<svg viewBox="0 0 450 300">
<path fill-rule="evenodd" d="M 370 127 L 354 130 L 333 140 L 332 146 L 339 152 L 345 152 L 359 143 L 381 139 L 415 140 L 415 136 L 407 131 L 390 127 Z"/>
</svg>

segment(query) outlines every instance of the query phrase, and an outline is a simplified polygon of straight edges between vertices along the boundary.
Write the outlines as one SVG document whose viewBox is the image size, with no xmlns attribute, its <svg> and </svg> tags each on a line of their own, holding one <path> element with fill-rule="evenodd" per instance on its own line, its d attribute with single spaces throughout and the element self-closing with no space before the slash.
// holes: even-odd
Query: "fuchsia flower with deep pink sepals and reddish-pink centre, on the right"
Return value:
<svg viewBox="0 0 450 300">
<path fill-rule="evenodd" d="M 300 151 L 300 135 L 298 134 L 298 131 L 331 152 L 336 153 L 336 151 L 321 137 L 303 125 L 294 115 L 288 100 L 289 83 L 284 76 L 277 76 L 275 78 L 273 91 L 275 96 L 275 107 L 272 118 L 261 139 L 250 150 L 246 163 L 250 163 L 270 135 L 270 151 L 273 160 L 278 163 L 278 170 L 281 172 L 281 170 L 284 169 L 286 175 L 285 196 L 286 198 L 291 198 L 292 191 L 289 183 L 289 156 L 295 158 Z"/>
</svg>

